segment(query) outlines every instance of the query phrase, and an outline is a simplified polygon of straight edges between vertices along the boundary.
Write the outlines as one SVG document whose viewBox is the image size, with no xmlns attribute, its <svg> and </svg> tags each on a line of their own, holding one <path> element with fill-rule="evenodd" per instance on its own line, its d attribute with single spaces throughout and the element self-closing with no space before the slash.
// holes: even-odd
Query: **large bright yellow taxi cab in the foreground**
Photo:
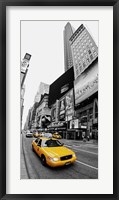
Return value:
<svg viewBox="0 0 119 200">
<path fill-rule="evenodd" d="M 32 142 L 32 149 L 41 158 L 43 165 L 58 167 L 69 165 L 76 160 L 75 153 L 54 138 L 37 138 Z"/>
</svg>

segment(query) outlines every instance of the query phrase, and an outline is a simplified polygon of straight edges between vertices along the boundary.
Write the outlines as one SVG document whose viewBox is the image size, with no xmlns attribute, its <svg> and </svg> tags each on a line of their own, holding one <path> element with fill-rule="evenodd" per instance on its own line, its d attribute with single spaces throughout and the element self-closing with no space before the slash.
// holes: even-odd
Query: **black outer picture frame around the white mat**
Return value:
<svg viewBox="0 0 119 200">
<path fill-rule="evenodd" d="M 113 6 L 113 194 L 6 194 L 6 7 Z M 119 0 L 0 0 L 0 198 L 1 199 L 119 199 Z"/>
</svg>

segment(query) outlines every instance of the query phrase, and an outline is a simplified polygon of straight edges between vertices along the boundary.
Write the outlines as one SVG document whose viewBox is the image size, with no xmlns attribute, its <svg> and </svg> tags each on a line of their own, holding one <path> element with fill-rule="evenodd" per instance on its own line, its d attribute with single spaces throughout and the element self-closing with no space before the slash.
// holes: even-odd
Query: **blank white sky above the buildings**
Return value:
<svg viewBox="0 0 119 200">
<path fill-rule="evenodd" d="M 31 54 L 25 79 L 23 127 L 40 82 L 51 84 L 64 73 L 64 26 L 87 28 L 98 46 L 98 21 L 21 21 L 21 60 Z"/>
</svg>

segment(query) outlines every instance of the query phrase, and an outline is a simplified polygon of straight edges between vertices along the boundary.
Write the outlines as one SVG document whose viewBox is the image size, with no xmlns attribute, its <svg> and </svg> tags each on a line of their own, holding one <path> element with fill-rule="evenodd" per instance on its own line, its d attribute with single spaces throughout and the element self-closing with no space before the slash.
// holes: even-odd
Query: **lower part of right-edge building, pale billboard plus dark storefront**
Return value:
<svg viewBox="0 0 119 200">
<path fill-rule="evenodd" d="M 98 133 L 98 61 L 96 60 L 75 81 L 75 112 L 79 128 L 86 127 L 85 134 L 97 138 Z M 96 136 L 95 136 L 96 135 Z"/>
</svg>

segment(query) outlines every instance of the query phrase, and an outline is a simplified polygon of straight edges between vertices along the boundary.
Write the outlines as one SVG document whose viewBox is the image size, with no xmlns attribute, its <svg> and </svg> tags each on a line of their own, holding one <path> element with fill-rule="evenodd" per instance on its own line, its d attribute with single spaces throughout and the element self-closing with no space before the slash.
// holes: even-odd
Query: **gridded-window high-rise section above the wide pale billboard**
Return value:
<svg viewBox="0 0 119 200">
<path fill-rule="evenodd" d="M 98 57 L 98 47 L 92 36 L 82 24 L 70 40 L 75 79 Z"/>
</svg>

